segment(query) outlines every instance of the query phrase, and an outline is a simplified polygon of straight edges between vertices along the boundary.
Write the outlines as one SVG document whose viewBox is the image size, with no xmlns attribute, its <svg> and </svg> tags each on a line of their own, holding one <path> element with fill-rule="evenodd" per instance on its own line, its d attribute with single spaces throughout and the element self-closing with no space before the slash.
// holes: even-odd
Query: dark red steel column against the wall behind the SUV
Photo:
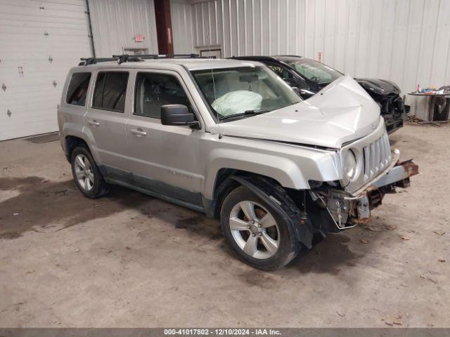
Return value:
<svg viewBox="0 0 450 337">
<path fill-rule="evenodd" d="M 160 54 L 172 55 L 174 53 L 174 44 L 169 0 L 155 0 L 155 19 L 158 51 Z"/>
</svg>

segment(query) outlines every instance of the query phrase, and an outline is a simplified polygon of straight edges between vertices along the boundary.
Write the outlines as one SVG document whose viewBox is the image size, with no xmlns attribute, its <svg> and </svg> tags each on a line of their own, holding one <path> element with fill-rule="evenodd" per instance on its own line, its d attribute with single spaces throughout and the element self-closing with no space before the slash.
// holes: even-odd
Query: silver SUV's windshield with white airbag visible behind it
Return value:
<svg viewBox="0 0 450 337">
<path fill-rule="evenodd" d="M 302 100 L 266 67 L 196 70 L 192 74 L 219 120 L 250 117 Z"/>
</svg>

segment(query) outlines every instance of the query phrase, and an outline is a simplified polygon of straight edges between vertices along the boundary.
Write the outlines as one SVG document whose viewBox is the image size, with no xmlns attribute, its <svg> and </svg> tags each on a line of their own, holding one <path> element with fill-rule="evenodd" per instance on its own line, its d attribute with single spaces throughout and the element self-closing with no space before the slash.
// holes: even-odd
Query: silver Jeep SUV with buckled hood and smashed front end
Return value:
<svg viewBox="0 0 450 337">
<path fill-rule="evenodd" d="M 275 270 L 313 236 L 371 221 L 418 173 L 349 76 L 302 101 L 259 62 L 84 59 L 58 108 L 84 196 L 122 185 L 220 218 L 246 263 Z"/>
</svg>

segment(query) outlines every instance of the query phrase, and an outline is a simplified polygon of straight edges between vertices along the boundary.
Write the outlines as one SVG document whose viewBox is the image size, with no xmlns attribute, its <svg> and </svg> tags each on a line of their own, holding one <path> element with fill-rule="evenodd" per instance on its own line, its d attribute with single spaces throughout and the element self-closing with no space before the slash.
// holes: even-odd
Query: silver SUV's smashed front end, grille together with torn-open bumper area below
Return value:
<svg viewBox="0 0 450 337">
<path fill-rule="evenodd" d="M 309 191 L 307 206 L 320 214 L 313 223 L 325 232 L 370 223 L 371 210 L 380 206 L 385 194 L 395 187 L 409 187 L 409 178 L 418 174 L 412 160 L 400 162 L 399 150 L 390 151 L 383 123 L 371 135 L 342 147 L 341 161 L 349 152 L 356 159 L 351 179 L 320 183 Z"/>
</svg>

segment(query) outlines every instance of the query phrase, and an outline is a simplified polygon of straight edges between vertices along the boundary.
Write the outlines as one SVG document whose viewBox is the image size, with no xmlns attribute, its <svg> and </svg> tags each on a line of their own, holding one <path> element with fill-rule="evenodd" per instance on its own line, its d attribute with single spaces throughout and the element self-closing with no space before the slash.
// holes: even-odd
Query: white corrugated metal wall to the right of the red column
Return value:
<svg viewBox="0 0 450 337">
<path fill-rule="evenodd" d="M 176 22 L 176 25 L 174 25 Z M 404 93 L 450 85 L 450 0 L 217 0 L 172 3 L 176 53 L 303 55 Z M 192 41 L 192 44 L 190 44 Z M 416 104 L 411 97 L 408 103 Z M 421 103 L 424 100 L 420 100 Z M 425 117 L 423 105 L 416 113 Z"/>
</svg>

